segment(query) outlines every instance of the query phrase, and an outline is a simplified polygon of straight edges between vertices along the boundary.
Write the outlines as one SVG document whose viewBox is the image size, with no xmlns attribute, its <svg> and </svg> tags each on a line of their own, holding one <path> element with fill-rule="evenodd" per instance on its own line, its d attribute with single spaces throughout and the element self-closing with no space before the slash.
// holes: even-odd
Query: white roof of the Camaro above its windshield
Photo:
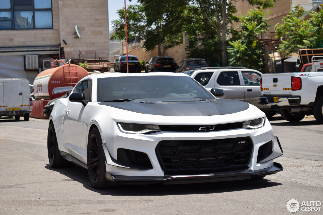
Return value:
<svg viewBox="0 0 323 215">
<path fill-rule="evenodd" d="M 181 76 L 181 77 L 188 77 L 188 75 L 184 73 L 173 73 L 173 72 L 149 72 L 149 73 L 121 73 L 121 72 L 112 72 L 112 73 L 103 73 L 103 74 L 91 74 L 88 75 L 82 80 L 92 78 L 105 78 L 105 77 L 135 77 L 135 76 Z"/>
</svg>

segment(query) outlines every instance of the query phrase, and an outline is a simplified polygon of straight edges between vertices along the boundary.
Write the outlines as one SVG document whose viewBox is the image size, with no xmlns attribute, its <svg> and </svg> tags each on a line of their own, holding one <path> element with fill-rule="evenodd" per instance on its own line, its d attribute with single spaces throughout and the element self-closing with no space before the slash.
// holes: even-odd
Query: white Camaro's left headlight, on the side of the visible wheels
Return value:
<svg viewBox="0 0 323 215">
<path fill-rule="evenodd" d="M 158 125 L 118 122 L 119 128 L 127 133 L 150 134 L 161 131 Z"/>
</svg>

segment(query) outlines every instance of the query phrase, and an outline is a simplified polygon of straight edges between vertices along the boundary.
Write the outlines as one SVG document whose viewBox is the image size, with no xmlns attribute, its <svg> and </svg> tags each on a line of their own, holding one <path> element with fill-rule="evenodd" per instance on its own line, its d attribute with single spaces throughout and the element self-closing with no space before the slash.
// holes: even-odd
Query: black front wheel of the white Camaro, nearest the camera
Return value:
<svg viewBox="0 0 323 215">
<path fill-rule="evenodd" d="M 110 188 L 110 182 L 105 178 L 104 151 L 98 128 L 93 128 L 89 133 L 87 151 L 88 173 L 92 187 L 95 189 Z"/>
</svg>

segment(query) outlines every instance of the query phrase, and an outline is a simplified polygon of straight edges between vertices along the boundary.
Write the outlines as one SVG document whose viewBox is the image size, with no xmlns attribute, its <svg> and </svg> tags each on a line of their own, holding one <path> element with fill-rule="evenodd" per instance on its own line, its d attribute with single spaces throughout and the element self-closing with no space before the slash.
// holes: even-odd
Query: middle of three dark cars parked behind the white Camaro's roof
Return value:
<svg viewBox="0 0 323 215">
<path fill-rule="evenodd" d="M 171 56 L 153 56 L 146 62 L 145 72 L 175 72 L 177 63 Z"/>
</svg>

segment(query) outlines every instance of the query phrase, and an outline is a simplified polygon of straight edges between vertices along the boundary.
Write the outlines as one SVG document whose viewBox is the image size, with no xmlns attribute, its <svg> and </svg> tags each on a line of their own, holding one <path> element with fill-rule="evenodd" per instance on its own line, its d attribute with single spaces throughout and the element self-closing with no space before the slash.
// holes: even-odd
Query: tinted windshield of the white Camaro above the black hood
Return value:
<svg viewBox="0 0 323 215">
<path fill-rule="evenodd" d="M 133 76 L 98 79 L 98 102 L 160 97 L 214 99 L 190 77 Z"/>
</svg>

